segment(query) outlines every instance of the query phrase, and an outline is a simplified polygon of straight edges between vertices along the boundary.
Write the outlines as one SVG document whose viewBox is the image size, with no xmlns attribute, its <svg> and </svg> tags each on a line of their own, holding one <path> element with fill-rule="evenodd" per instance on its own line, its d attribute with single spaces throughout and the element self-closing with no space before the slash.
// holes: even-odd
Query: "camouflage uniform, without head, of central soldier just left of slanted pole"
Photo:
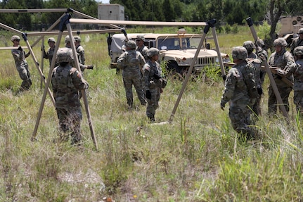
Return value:
<svg viewBox="0 0 303 202">
<path fill-rule="evenodd" d="M 146 115 L 151 121 L 155 121 L 155 111 L 159 107 L 160 94 L 162 83 L 155 75 L 162 75 L 160 64 L 157 62 L 148 62 L 143 66 L 143 83 L 144 89 L 150 91 L 151 99 L 147 99 L 148 106 L 146 108 Z"/>
</svg>

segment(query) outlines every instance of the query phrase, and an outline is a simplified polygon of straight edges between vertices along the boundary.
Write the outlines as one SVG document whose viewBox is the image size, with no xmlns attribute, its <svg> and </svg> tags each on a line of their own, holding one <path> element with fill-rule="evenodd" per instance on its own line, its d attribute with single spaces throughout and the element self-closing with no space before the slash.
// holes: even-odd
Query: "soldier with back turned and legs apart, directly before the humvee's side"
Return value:
<svg viewBox="0 0 303 202">
<path fill-rule="evenodd" d="M 146 105 L 141 75 L 141 67 L 143 67 L 146 61 L 141 53 L 136 51 L 136 42 L 128 41 L 125 46 L 126 51 L 117 59 L 117 68 L 123 70 L 122 77 L 127 94 L 127 104 L 129 108 L 133 106 L 132 86 L 134 85 L 141 105 Z"/>
</svg>

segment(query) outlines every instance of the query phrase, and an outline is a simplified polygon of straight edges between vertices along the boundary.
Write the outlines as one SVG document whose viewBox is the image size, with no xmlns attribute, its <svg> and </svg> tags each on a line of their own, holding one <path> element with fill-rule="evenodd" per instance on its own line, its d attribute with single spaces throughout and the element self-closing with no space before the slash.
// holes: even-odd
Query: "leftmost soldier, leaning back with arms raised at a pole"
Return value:
<svg viewBox="0 0 303 202">
<path fill-rule="evenodd" d="M 30 56 L 30 52 L 25 54 L 25 51 L 23 51 L 20 46 L 19 36 L 13 35 L 13 37 L 11 37 L 11 42 L 13 42 L 13 46 L 18 46 L 18 49 L 11 50 L 11 54 L 15 60 L 15 68 L 18 70 L 19 76 L 22 80 L 19 91 L 25 91 L 30 89 L 30 86 L 32 85 L 30 70 L 28 69 L 27 61 L 25 60 L 25 58 Z"/>
</svg>

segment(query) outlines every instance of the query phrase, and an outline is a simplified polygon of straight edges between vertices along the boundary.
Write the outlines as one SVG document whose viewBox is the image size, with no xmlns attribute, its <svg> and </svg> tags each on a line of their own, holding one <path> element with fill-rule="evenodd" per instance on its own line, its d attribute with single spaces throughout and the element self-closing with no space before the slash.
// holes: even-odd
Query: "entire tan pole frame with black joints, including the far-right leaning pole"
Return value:
<svg viewBox="0 0 303 202">
<path fill-rule="evenodd" d="M 22 35 L 22 38 L 25 40 L 25 43 L 27 45 L 27 49 L 29 49 L 31 55 L 32 55 L 32 59 L 35 62 L 35 65 L 37 67 L 37 70 L 39 71 L 40 77 L 41 77 L 41 82 L 44 82 L 45 84 L 45 88 L 44 88 L 44 94 L 42 96 L 42 101 L 41 101 L 41 105 L 39 108 L 39 113 L 38 113 L 38 117 L 37 117 L 37 121 L 36 121 L 36 125 L 34 127 L 34 132 L 32 134 L 31 140 L 34 141 L 37 139 L 37 130 L 39 127 L 39 121 L 41 119 L 41 114 L 44 108 L 44 103 L 46 100 L 46 94 L 49 94 L 49 96 L 51 97 L 51 101 L 53 102 L 53 105 L 55 106 L 55 100 L 53 99 L 53 95 L 51 94 L 51 91 L 49 89 L 49 84 L 51 82 L 51 75 L 52 75 L 52 71 L 54 68 L 54 65 L 56 63 L 56 57 L 52 58 L 51 61 L 51 65 L 50 65 L 50 69 L 49 69 L 49 75 L 47 77 L 47 81 L 45 80 L 45 76 L 43 75 L 43 72 L 41 70 L 41 68 L 39 68 L 39 63 L 37 62 L 37 58 L 34 56 L 34 52 L 32 51 L 32 46 L 36 45 L 39 40 L 44 38 L 44 35 L 53 35 L 53 34 L 58 34 L 58 39 L 57 39 L 57 43 L 60 44 L 61 38 L 62 38 L 62 34 L 68 34 L 70 36 L 70 39 L 73 39 L 73 34 L 77 33 L 80 34 L 79 31 L 72 31 L 71 25 L 70 23 L 89 23 L 89 24 L 103 24 L 103 25 L 108 25 L 108 27 L 112 27 L 112 29 L 110 30 L 85 30 L 85 31 L 81 31 L 81 33 L 108 33 L 108 32 L 117 32 L 117 31 L 122 31 L 124 30 L 124 28 L 119 27 L 117 25 L 113 25 L 113 21 L 115 21 L 115 24 L 119 24 L 119 25 L 162 25 L 162 26 L 205 26 L 205 29 L 203 31 L 202 34 L 202 38 L 200 40 L 200 44 L 198 45 L 198 49 L 195 53 L 195 56 L 191 62 L 191 66 L 188 69 L 188 72 L 186 74 L 185 80 L 183 81 L 182 84 L 182 88 L 181 91 L 179 93 L 178 99 L 176 100 L 176 103 L 174 105 L 174 108 L 172 110 L 172 114 L 169 117 L 168 123 L 171 123 L 173 118 L 174 118 L 174 114 L 176 113 L 176 109 L 179 106 L 179 102 L 181 101 L 181 96 L 183 95 L 183 92 L 186 88 L 186 84 L 189 80 L 189 77 L 191 76 L 191 72 L 193 71 L 193 67 L 195 65 L 195 62 L 197 61 L 198 58 L 198 54 L 200 52 L 200 49 L 202 48 L 202 44 L 205 40 L 206 34 L 209 31 L 209 28 L 212 28 L 212 34 L 213 34 L 213 38 L 214 38 L 214 44 L 216 46 L 217 49 L 217 54 L 218 54 L 218 59 L 219 59 L 219 65 L 221 68 L 221 76 L 222 78 L 225 80 L 226 78 L 226 73 L 224 70 L 224 64 L 221 58 L 221 52 L 219 49 L 219 43 L 218 43 L 218 39 L 217 39 L 217 33 L 216 33 L 216 29 L 214 27 L 214 24 L 216 23 L 216 20 L 212 19 L 209 20 L 207 23 L 191 23 L 191 22 L 143 22 L 143 21 L 124 21 L 124 20 L 98 20 L 96 18 L 93 18 L 89 15 L 85 15 L 83 13 L 79 13 L 77 11 L 72 10 L 71 8 L 67 8 L 63 9 L 63 8 L 53 8 L 53 9 L 25 9 L 25 10 L 18 10 L 18 9 L 0 9 L 0 13 L 40 13 L 40 12 L 65 12 L 65 14 L 63 14 L 55 23 L 53 23 L 53 25 L 51 25 L 51 27 L 49 27 L 48 30 L 46 30 L 44 32 L 29 32 L 29 33 L 24 33 L 24 32 L 20 32 L 19 30 L 15 30 L 12 27 L 8 27 L 7 25 L 4 25 L 2 23 L 0 23 L 0 27 L 6 29 L 6 30 L 10 30 L 12 32 L 16 32 L 18 34 Z M 78 15 L 82 15 L 84 18 L 90 18 L 90 19 L 71 19 L 71 15 L 70 12 L 73 13 L 77 13 Z M 252 25 L 252 20 L 251 18 L 247 18 L 247 24 L 250 27 L 250 30 L 252 32 L 252 36 L 254 37 L 254 40 L 257 40 L 257 33 L 254 30 L 254 27 Z M 51 30 L 53 30 L 53 27 L 55 27 L 58 23 L 60 23 L 60 28 L 59 28 L 59 32 L 51 32 Z M 65 27 L 67 27 L 67 31 L 64 31 Z M 30 43 L 27 40 L 27 36 L 40 36 L 33 44 L 32 46 L 30 46 Z M 43 45 L 43 44 L 42 44 Z M 72 46 L 72 53 L 74 58 L 77 58 L 77 51 L 76 51 L 76 47 L 74 43 L 71 43 Z M 15 47 L 9 47 L 9 48 L 0 48 L 1 49 L 15 49 Z M 56 46 L 55 52 L 56 53 L 58 51 L 58 46 Z M 43 61 L 43 58 L 41 58 Z M 43 65 L 43 62 L 42 62 Z M 79 61 L 77 59 L 75 59 L 75 65 L 76 68 L 80 71 L 79 68 Z M 43 67 L 42 67 L 43 68 Z M 281 99 L 281 95 L 279 94 L 278 88 L 276 87 L 276 82 L 273 80 L 273 76 L 271 75 L 271 70 L 269 69 L 269 65 L 268 63 L 265 63 L 265 68 L 266 68 L 266 72 L 267 75 L 269 75 L 269 80 L 271 82 L 271 85 L 273 87 L 273 91 L 276 95 L 276 98 L 278 100 L 279 106 L 281 108 L 281 111 L 283 113 L 283 115 L 285 116 L 285 118 L 288 118 L 288 113 L 285 110 L 285 106 L 283 105 L 283 101 Z M 88 118 L 88 122 L 89 122 L 89 129 L 91 131 L 91 138 L 94 142 L 94 146 L 96 147 L 96 149 L 98 150 L 98 144 L 96 142 L 96 136 L 95 136 L 95 132 L 94 132 L 94 127 L 93 127 L 93 123 L 91 120 L 91 114 L 89 111 L 89 105 L 88 105 L 88 101 L 87 101 L 87 97 L 86 94 L 84 93 L 84 90 L 82 90 L 82 97 L 84 100 L 84 106 L 86 109 L 86 116 Z M 166 123 L 166 122 L 165 122 Z"/>
</svg>

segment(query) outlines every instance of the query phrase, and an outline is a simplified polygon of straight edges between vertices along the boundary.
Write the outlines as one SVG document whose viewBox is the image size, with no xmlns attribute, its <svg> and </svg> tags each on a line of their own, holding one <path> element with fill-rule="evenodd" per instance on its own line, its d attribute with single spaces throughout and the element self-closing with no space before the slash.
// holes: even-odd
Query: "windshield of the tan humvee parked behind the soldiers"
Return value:
<svg viewBox="0 0 303 202">
<path fill-rule="evenodd" d="M 200 37 L 163 37 L 157 42 L 157 49 L 160 50 L 182 50 L 197 49 Z"/>
</svg>

